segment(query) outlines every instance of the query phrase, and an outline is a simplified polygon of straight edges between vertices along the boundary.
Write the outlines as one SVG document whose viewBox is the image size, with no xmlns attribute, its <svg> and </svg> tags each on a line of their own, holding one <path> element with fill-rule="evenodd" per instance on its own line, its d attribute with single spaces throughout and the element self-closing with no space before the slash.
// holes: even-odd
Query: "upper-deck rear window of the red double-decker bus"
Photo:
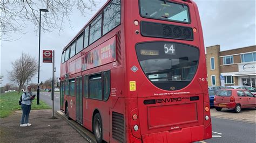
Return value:
<svg viewBox="0 0 256 143">
<path fill-rule="evenodd" d="M 164 0 L 140 0 L 140 15 L 145 18 L 190 23 L 188 6 Z"/>
</svg>

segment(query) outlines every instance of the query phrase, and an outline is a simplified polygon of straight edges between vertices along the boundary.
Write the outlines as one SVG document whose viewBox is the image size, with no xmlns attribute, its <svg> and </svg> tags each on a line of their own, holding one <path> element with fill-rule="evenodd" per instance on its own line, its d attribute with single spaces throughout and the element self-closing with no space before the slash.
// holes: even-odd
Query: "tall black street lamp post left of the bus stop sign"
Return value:
<svg viewBox="0 0 256 143">
<path fill-rule="evenodd" d="M 37 105 L 39 104 L 39 75 L 40 75 L 40 38 L 41 38 L 41 11 L 48 12 L 47 9 L 39 9 L 39 52 L 38 52 L 38 79 L 37 79 Z"/>
</svg>

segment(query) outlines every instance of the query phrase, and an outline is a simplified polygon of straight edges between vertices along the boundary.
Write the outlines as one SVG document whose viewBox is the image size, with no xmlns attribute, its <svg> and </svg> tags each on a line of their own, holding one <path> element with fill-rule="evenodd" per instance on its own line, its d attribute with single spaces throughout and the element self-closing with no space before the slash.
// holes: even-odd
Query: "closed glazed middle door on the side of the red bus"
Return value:
<svg viewBox="0 0 256 143">
<path fill-rule="evenodd" d="M 82 77 L 76 78 L 76 121 L 83 124 Z"/>
</svg>

